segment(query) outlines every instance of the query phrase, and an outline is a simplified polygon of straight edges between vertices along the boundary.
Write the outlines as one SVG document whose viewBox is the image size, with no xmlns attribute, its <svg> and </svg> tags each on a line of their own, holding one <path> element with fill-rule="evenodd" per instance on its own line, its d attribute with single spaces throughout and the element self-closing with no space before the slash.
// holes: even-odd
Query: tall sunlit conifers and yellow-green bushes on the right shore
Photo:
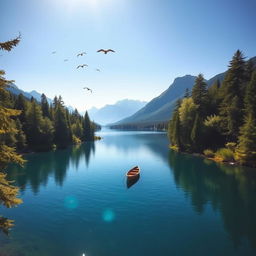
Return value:
<svg viewBox="0 0 256 256">
<path fill-rule="evenodd" d="M 256 69 L 237 51 L 224 81 L 207 87 L 198 75 L 169 122 L 171 147 L 256 167 Z"/>
</svg>

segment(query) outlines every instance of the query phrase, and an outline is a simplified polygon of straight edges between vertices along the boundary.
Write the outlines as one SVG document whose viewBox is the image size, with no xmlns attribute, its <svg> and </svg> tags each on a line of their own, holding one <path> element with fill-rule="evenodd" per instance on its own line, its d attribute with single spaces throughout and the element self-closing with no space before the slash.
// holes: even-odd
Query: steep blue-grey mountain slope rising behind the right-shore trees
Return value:
<svg viewBox="0 0 256 256">
<path fill-rule="evenodd" d="M 256 57 L 251 59 L 256 65 Z M 206 80 L 208 86 L 211 86 L 215 81 L 224 80 L 226 72 L 220 73 L 209 80 Z M 186 75 L 174 79 L 170 87 L 161 95 L 151 100 L 145 107 L 137 111 L 135 114 L 124 118 L 111 126 L 136 126 L 136 125 L 151 125 L 156 123 L 166 123 L 170 120 L 175 103 L 179 98 L 184 96 L 186 88 L 190 91 L 193 88 L 196 77 Z"/>
</svg>

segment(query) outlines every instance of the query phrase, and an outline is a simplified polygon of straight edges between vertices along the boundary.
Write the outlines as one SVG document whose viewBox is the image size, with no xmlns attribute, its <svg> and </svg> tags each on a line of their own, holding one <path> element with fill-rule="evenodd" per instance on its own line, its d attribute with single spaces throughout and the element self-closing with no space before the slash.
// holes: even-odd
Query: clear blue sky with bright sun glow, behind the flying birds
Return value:
<svg viewBox="0 0 256 256">
<path fill-rule="evenodd" d="M 149 101 L 177 76 L 208 79 L 237 49 L 256 55 L 255 0 L 0 0 L 0 10 L 0 41 L 22 34 L 18 47 L 1 53 L 7 78 L 26 91 L 61 94 L 81 111 Z M 87 55 L 76 57 L 81 51 Z"/>
</svg>

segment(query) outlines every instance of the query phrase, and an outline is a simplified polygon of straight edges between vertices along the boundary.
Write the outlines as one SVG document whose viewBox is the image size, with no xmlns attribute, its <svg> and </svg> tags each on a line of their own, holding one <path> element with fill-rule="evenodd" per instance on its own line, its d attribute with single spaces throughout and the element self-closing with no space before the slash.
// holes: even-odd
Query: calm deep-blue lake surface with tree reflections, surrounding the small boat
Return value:
<svg viewBox="0 0 256 256">
<path fill-rule="evenodd" d="M 0 209 L 1 256 L 256 255 L 256 169 L 172 152 L 165 133 L 98 134 L 10 166 L 24 203 Z"/>
</svg>

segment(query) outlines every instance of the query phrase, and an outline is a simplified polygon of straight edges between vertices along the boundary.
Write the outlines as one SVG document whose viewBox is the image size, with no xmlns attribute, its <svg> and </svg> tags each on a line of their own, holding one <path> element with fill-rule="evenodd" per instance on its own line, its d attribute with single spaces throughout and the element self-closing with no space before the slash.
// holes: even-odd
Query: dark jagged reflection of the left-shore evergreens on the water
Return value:
<svg viewBox="0 0 256 256">
<path fill-rule="evenodd" d="M 31 186 L 34 193 L 39 192 L 40 186 L 46 186 L 50 177 L 54 178 L 57 185 L 63 186 L 68 167 L 73 165 L 77 169 L 83 158 L 88 166 L 94 153 L 94 142 L 88 142 L 56 152 L 29 155 L 24 169 L 19 166 L 9 168 L 8 178 L 15 180 L 15 185 L 19 186 L 21 191 Z"/>
</svg>

